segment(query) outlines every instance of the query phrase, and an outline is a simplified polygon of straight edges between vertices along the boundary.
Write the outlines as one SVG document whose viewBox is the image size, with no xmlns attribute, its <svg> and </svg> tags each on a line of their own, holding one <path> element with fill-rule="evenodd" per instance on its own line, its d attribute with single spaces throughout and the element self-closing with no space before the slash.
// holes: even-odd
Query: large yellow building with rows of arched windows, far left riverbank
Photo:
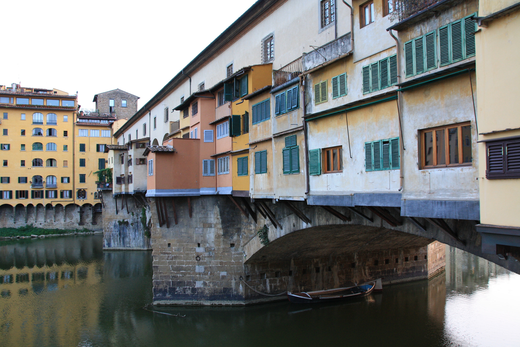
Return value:
<svg viewBox="0 0 520 347">
<path fill-rule="evenodd" d="M 73 203 L 77 96 L 58 89 L 0 86 L 0 199 L 22 204 Z"/>
</svg>

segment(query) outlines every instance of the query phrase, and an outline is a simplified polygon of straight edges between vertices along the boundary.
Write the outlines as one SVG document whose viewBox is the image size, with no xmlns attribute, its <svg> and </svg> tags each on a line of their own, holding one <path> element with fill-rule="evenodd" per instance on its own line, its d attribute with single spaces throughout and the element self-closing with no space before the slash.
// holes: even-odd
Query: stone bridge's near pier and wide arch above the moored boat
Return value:
<svg viewBox="0 0 520 347">
<path fill-rule="evenodd" d="M 248 304 L 283 298 L 250 288 L 276 294 L 426 279 L 444 268 L 443 243 L 520 273 L 512 257 L 482 253 L 477 221 L 223 195 L 148 201 L 155 304 Z M 264 225 L 267 245 L 257 234 Z"/>
</svg>

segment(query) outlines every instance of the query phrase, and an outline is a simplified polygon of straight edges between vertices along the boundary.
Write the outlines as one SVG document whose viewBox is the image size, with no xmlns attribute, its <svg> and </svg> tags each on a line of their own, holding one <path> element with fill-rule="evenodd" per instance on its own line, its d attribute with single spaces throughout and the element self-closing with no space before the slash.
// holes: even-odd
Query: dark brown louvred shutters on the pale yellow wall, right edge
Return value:
<svg viewBox="0 0 520 347">
<path fill-rule="evenodd" d="M 520 137 L 486 143 L 486 178 L 520 178 Z"/>
</svg>

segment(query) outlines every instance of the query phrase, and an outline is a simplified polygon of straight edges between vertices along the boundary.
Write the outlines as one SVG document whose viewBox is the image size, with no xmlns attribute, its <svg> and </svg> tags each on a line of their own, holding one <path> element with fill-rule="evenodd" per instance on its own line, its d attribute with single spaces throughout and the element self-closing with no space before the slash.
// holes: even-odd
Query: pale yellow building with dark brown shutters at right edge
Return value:
<svg viewBox="0 0 520 347">
<path fill-rule="evenodd" d="M 520 259 L 518 0 L 480 0 L 476 33 L 480 223 L 484 253 Z M 500 255 L 499 255 L 500 256 Z"/>
</svg>

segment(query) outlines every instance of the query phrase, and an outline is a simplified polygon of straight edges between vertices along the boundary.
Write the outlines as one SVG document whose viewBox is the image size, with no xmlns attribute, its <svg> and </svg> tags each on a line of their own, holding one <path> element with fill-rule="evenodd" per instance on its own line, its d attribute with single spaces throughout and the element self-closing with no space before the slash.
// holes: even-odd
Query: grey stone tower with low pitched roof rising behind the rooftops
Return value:
<svg viewBox="0 0 520 347">
<path fill-rule="evenodd" d="M 118 119 L 124 119 L 132 117 L 137 112 L 137 99 L 138 96 L 118 88 L 96 94 L 92 101 L 96 102 L 96 110 L 100 115 L 115 115 Z"/>
</svg>

